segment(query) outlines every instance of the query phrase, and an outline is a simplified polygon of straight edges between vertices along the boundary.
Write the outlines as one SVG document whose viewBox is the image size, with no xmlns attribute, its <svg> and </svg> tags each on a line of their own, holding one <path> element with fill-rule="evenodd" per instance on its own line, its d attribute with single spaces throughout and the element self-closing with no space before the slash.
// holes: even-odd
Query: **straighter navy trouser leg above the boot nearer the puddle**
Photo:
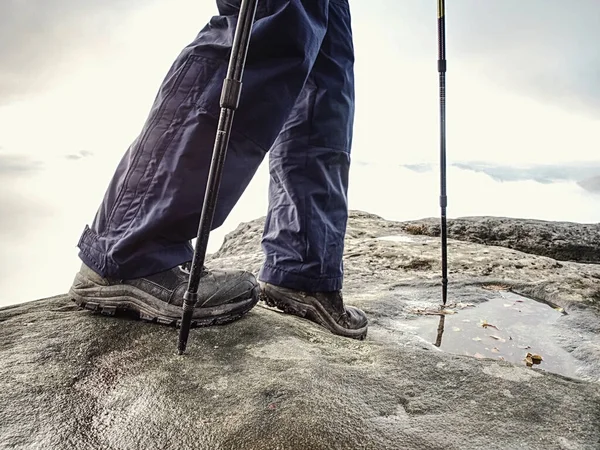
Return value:
<svg viewBox="0 0 600 450">
<path fill-rule="evenodd" d="M 269 155 L 262 281 L 303 291 L 342 288 L 353 65 L 349 6 L 332 0 L 315 65 Z"/>
</svg>

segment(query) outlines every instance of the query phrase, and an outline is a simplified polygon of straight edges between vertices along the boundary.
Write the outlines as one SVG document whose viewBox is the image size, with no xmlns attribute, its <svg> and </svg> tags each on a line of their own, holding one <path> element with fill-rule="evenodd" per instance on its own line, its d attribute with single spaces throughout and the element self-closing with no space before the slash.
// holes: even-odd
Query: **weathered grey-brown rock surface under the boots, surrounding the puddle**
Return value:
<svg viewBox="0 0 600 450">
<path fill-rule="evenodd" d="M 501 283 L 560 305 L 582 365 L 574 379 L 453 355 L 407 326 L 440 302 L 440 246 L 405 226 L 351 215 L 344 292 L 371 319 L 365 341 L 257 306 L 178 356 L 175 329 L 66 296 L 1 309 L 0 448 L 600 448 L 600 267 L 450 240 L 450 302 Z M 240 225 L 209 266 L 256 271 L 261 231 Z"/>
</svg>

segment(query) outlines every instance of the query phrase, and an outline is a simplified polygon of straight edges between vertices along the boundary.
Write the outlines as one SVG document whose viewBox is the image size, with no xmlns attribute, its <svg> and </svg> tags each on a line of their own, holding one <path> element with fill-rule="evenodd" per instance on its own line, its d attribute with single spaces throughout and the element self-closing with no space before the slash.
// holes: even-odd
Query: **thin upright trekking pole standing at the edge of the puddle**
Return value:
<svg viewBox="0 0 600 450">
<path fill-rule="evenodd" d="M 446 5 L 445 0 L 438 0 L 438 72 L 440 74 L 440 177 L 442 209 L 442 301 L 444 305 L 448 297 L 448 251 L 446 230 Z"/>
</svg>

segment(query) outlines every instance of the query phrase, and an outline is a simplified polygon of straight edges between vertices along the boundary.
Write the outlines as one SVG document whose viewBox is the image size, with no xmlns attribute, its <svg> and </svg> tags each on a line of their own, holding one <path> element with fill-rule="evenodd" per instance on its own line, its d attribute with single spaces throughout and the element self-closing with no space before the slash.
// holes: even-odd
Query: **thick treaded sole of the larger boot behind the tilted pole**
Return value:
<svg viewBox="0 0 600 450">
<path fill-rule="evenodd" d="M 191 327 L 224 325 L 244 316 L 258 303 L 259 286 L 238 296 L 229 303 L 196 308 L 192 315 Z M 167 326 L 181 326 L 182 308 L 170 305 L 147 294 L 135 286 L 100 285 L 77 274 L 69 296 L 77 306 L 106 316 L 116 316 L 130 312 L 140 320 Z"/>
</svg>

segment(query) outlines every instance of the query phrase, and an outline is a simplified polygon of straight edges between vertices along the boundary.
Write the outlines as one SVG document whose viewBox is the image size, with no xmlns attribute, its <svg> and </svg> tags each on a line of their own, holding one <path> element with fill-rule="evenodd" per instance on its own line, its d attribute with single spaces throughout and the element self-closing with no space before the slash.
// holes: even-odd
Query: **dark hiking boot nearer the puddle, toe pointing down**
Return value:
<svg viewBox="0 0 600 450">
<path fill-rule="evenodd" d="M 285 313 L 311 320 L 333 334 L 354 339 L 367 335 L 368 319 L 353 306 L 344 306 L 340 291 L 302 292 L 260 282 L 261 300 Z"/>
</svg>

